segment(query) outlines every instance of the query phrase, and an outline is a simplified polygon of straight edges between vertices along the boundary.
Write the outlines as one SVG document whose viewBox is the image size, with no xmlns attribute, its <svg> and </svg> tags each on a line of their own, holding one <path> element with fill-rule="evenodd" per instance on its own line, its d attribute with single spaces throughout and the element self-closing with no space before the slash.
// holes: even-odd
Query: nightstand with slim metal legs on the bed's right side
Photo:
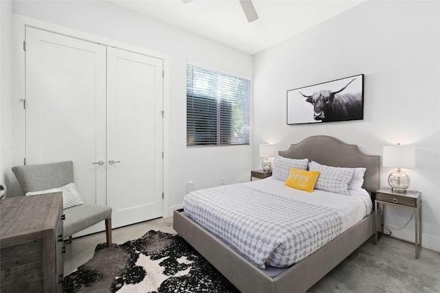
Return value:
<svg viewBox="0 0 440 293">
<path fill-rule="evenodd" d="M 377 244 L 377 240 L 378 240 L 377 231 L 379 230 L 378 227 L 379 210 L 377 209 L 378 203 L 382 204 L 382 211 L 380 215 L 381 222 L 384 218 L 384 209 L 383 209 L 384 204 L 393 204 L 395 206 L 405 207 L 407 209 L 413 209 L 415 211 L 415 242 L 414 243 L 410 242 L 410 243 L 415 244 L 415 258 L 418 259 L 421 250 L 421 192 L 418 191 L 394 192 L 391 190 L 390 187 L 382 187 L 381 189 L 376 191 L 374 244 Z M 383 235 L 384 234 L 383 226 L 381 226 L 380 231 Z"/>
</svg>

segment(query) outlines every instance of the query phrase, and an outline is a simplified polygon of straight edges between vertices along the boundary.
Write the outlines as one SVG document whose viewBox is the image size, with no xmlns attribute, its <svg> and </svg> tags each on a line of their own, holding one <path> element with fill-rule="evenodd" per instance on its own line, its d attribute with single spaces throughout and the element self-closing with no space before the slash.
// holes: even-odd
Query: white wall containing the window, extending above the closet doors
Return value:
<svg viewBox="0 0 440 293">
<path fill-rule="evenodd" d="M 170 56 L 170 209 L 180 207 L 188 180 L 195 189 L 249 180 L 250 146 L 186 148 L 186 60 L 252 78 L 252 56 L 108 1 L 14 1 L 14 13 Z"/>
</svg>

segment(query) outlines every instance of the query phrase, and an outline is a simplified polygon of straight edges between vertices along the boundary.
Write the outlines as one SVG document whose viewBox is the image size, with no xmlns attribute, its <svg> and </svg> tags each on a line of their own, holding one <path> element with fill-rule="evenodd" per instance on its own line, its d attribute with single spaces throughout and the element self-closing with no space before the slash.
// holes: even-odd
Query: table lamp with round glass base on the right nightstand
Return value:
<svg viewBox="0 0 440 293">
<path fill-rule="evenodd" d="M 397 167 L 397 171 L 388 175 L 388 184 L 396 192 L 406 192 L 411 180 L 401 168 L 415 167 L 415 147 L 412 145 L 384 145 L 384 167 Z"/>
</svg>

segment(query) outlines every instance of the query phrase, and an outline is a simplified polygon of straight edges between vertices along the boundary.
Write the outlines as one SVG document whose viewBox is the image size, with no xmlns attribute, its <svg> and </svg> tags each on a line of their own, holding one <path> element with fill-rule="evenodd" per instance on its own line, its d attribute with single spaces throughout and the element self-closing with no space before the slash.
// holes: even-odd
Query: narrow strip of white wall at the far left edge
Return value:
<svg viewBox="0 0 440 293">
<path fill-rule="evenodd" d="M 0 1 L 0 183 L 12 182 L 12 1 Z M 6 196 L 8 196 L 6 194 Z"/>
</svg>

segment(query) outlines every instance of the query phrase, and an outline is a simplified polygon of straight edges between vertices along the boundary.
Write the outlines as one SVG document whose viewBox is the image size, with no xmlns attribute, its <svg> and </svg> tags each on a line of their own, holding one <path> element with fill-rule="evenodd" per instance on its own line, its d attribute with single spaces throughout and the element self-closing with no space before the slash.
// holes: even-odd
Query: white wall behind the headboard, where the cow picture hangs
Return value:
<svg viewBox="0 0 440 293">
<path fill-rule="evenodd" d="M 440 251 L 440 8 L 438 1 L 367 1 L 254 56 L 254 167 L 258 145 L 287 149 L 315 134 L 358 144 L 367 154 L 412 144 L 411 189 L 422 192 L 424 247 Z M 364 120 L 286 124 L 286 91 L 364 73 Z M 381 186 L 393 169 L 382 167 Z M 409 209 L 386 207 L 401 227 Z M 393 235 L 414 241 L 414 220 Z M 422 252 L 423 253 L 423 252 Z"/>
</svg>

